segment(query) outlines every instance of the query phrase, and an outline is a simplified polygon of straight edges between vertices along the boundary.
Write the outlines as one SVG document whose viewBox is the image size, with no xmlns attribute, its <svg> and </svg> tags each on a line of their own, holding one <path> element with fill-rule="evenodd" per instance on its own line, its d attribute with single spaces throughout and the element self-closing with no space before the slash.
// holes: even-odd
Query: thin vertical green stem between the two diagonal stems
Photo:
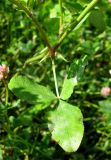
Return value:
<svg viewBox="0 0 111 160">
<path fill-rule="evenodd" d="M 59 34 L 63 32 L 63 9 L 62 9 L 62 0 L 59 0 L 59 7 L 60 7 L 60 27 L 59 27 Z"/>
</svg>

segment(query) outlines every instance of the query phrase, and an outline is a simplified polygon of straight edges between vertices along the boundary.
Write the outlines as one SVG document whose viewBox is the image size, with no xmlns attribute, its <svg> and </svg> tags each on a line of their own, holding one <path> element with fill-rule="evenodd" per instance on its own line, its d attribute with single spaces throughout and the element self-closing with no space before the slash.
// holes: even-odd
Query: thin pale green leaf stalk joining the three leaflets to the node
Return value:
<svg viewBox="0 0 111 160">
<path fill-rule="evenodd" d="M 56 76 L 56 69 L 55 69 L 55 62 L 54 59 L 52 59 L 52 70 L 53 70 L 53 76 L 54 76 L 54 83 L 55 83 L 55 90 L 56 90 L 56 95 L 58 98 L 60 98 L 59 96 L 59 90 L 58 90 L 58 84 L 57 84 L 57 76 Z"/>
</svg>

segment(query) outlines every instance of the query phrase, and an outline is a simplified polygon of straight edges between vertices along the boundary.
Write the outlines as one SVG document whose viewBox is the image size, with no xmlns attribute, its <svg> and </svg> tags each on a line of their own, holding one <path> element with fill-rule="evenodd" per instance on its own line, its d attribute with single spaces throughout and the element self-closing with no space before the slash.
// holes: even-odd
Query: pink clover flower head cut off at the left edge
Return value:
<svg viewBox="0 0 111 160">
<path fill-rule="evenodd" d="M 5 64 L 0 65 L 0 81 L 6 79 L 8 73 L 9 73 L 9 67 L 6 66 Z"/>
</svg>

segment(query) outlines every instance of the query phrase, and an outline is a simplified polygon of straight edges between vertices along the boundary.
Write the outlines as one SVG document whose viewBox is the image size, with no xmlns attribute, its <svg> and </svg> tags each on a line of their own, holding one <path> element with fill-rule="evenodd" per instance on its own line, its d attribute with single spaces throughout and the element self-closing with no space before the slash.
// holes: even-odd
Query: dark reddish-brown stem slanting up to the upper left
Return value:
<svg viewBox="0 0 111 160">
<path fill-rule="evenodd" d="M 23 10 L 26 13 L 26 15 L 33 21 L 33 23 L 36 25 L 37 30 L 40 32 L 41 37 L 44 40 L 46 46 L 48 47 L 50 53 L 52 53 L 53 51 L 49 43 L 48 37 L 45 31 L 43 30 L 41 24 L 38 22 L 37 18 L 33 15 L 33 13 L 26 6 L 24 6 L 19 0 L 10 0 L 10 1 L 12 1 L 13 4 L 15 4 L 16 6 L 18 6 L 18 8 Z"/>
</svg>

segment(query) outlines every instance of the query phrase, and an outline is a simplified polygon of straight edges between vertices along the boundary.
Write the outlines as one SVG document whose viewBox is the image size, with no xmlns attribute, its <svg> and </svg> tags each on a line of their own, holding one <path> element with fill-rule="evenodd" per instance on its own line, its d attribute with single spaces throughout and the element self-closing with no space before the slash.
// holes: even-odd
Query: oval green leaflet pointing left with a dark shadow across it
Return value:
<svg viewBox="0 0 111 160">
<path fill-rule="evenodd" d="M 8 87 L 17 97 L 31 104 L 49 104 L 56 99 L 48 88 L 33 82 L 25 76 L 14 76 Z"/>
</svg>

